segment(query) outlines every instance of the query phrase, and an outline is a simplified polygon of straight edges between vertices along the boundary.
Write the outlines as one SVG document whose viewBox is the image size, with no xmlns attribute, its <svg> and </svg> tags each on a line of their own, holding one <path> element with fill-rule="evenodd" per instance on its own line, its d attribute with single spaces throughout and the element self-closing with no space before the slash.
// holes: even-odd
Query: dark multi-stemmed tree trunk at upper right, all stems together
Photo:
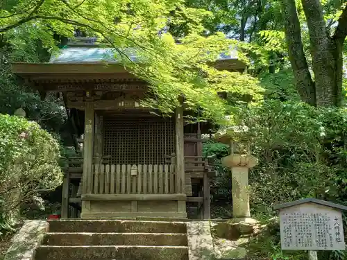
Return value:
<svg viewBox="0 0 347 260">
<path fill-rule="evenodd" d="M 295 0 L 282 0 L 289 60 L 296 87 L 303 101 L 316 106 L 339 106 L 342 99 L 342 50 L 347 35 L 347 6 L 331 37 L 323 17 L 320 0 L 301 0 L 310 35 L 310 51 L 314 81 L 310 74 Z"/>
</svg>

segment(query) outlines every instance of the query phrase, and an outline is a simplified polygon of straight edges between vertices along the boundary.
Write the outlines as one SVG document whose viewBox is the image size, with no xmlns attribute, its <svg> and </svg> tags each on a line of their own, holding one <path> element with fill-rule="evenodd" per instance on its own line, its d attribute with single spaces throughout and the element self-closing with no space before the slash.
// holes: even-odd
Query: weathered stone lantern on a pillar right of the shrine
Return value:
<svg viewBox="0 0 347 260">
<path fill-rule="evenodd" d="M 257 165 L 257 158 L 249 154 L 247 140 L 242 138 L 246 128 L 233 127 L 219 132 L 214 139 L 230 146 L 230 155 L 223 157 L 223 166 L 231 169 L 232 216 L 250 218 L 248 170 Z"/>
</svg>

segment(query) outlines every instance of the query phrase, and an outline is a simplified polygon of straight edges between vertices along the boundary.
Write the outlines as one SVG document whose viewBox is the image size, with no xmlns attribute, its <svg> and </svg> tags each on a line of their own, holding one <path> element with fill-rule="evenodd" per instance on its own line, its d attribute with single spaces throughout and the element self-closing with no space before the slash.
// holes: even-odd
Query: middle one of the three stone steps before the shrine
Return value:
<svg viewBox="0 0 347 260">
<path fill-rule="evenodd" d="M 43 245 L 170 245 L 187 246 L 187 234 L 47 233 Z"/>
</svg>

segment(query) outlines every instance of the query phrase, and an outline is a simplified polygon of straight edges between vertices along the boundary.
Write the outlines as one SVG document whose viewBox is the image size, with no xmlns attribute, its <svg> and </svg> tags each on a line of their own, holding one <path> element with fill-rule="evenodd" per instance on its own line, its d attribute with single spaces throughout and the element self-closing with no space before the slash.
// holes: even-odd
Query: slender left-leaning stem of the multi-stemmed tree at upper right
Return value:
<svg viewBox="0 0 347 260">
<path fill-rule="evenodd" d="M 281 9 L 289 60 L 296 79 L 296 89 L 303 101 L 310 105 L 316 105 L 316 91 L 303 49 L 295 0 L 282 0 Z"/>
</svg>

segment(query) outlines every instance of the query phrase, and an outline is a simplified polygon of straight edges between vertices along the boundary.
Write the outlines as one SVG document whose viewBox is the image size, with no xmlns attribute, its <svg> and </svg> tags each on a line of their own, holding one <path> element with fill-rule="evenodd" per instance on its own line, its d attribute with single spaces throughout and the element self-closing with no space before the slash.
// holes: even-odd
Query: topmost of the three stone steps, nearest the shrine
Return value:
<svg viewBox="0 0 347 260">
<path fill-rule="evenodd" d="M 186 234 L 183 222 L 139 220 L 49 220 L 49 232 Z"/>
</svg>

